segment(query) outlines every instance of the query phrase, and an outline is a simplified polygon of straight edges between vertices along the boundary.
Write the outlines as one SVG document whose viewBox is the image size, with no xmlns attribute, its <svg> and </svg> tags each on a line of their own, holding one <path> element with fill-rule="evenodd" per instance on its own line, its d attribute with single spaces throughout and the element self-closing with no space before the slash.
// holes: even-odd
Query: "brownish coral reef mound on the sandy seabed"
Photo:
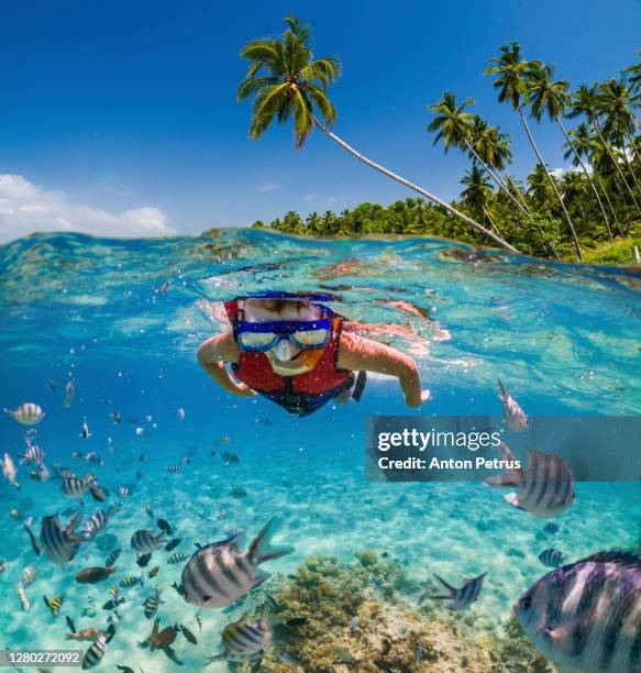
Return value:
<svg viewBox="0 0 641 673">
<path fill-rule="evenodd" d="M 473 614 L 435 602 L 417 604 L 421 587 L 402 563 L 358 550 L 356 562 L 310 558 L 294 575 L 258 589 L 256 611 L 268 609 L 274 639 L 248 673 L 422 671 L 515 673 L 554 671 L 508 620 L 500 635 Z M 480 626 L 479 626 L 480 625 Z M 480 628 L 483 627 L 483 628 Z"/>
</svg>

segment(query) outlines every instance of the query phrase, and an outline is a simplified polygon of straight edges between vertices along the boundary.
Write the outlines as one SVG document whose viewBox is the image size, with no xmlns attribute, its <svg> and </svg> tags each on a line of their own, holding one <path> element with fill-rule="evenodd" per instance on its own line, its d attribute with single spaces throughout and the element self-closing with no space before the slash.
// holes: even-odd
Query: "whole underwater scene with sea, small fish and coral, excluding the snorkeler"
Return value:
<svg viewBox="0 0 641 673">
<path fill-rule="evenodd" d="M 483 482 L 365 475 L 369 417 L 638 415 L 638 271 L 211 230 L 34 234 L 0 274 L 2 649 L 145 673 L 641 671 L 638 481 L 577 481 L 534 516 Z M 324 295 L 429 398 L 376 372 L 303 416 L 228 393 L 199 347 L 231 338 L 223 302 L 275 291 Z M 636 598 L 595 622 L 597 566 Z M 566 580 L 578 621 L 523 617 Z"/>
</svg>

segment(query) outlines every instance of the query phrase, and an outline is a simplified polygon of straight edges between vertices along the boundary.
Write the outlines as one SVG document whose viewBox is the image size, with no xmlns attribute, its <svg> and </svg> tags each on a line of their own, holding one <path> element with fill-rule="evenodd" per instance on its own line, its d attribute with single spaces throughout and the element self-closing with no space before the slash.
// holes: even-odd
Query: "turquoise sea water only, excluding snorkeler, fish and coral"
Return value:
<svg viewBox="0 0 641 673">
<path fill-rule="evenodd" d="M 254 230 L 157 241 L 38 234 L 0 247 L 0 407 L 33 401 L 43 408 L 35 442 L 47 465 L 59 463 L 81 476 L 91 471 L 112 494 L 131 488 L 106 530 L 123 548 L 115 580 L 141 573 L 129 540 L 134 530 L 154 527 L 147 504 L 183 540 L 175 551 L 187 554 L 194 542 L 214 541 L 228 529 L 251 538 L 278 516 L 278 540 L 296 552 L 266 564 L 273 573 L 291 573 L 314 554 L 353 560 L 358 549 L 387 552 L 421 583 L 433 574 L 455 583 L 460 575 L 487 572 L 472 608 L 480 631 L 504 620 L 544 574 L 537 556 L 545 547 L 576 560 L 631 547 L 639 538 L 638 484 L 578 484 L 576 504 L 555 520 L 560 531 L 552 540 L 542 533 L 544 521 L 480 484 L 382 485 L 364 478 L 366 417 L 498 415 L 497 377 L 529 415 L 638 413 L 638 272 L 539 262 L 435 239 L 311 241 Z M 266 400 L 222 393 L 198 366 L 196 349 L 229 329 L 221 300 L 267 289 L 330 293 L 332 307 L 361 333 L 417 360 L 431 400 L 409 410 L 395 380 L 371 376 L 358 405 L 330 404 L 299 419 Z M 76 395 L 66 408 L 69 377 Z M 122 423 L 113 422 L 114 411 Z M 79 437 L 85 419 L 87 440 Z M 8 419 L 0 429 L 1 452 L 18 462 L 25 428 Z M 73 451 L 97 451 L 106 464 L 74 460 Z M 225 465 L 224 451 L 240 463 Z M 179 474 L 165 471 L 184 456 L 190 463 Z M 78 629 L 103 628 L 108 613 L 101 605 L 111 582 L 86 587 L 74 577 L 101 565 L 107 552 L 96 542 L 82 544 L 65 569 L 36 558 L 10 511 L 33 517 L 37 534 L 43 516 L 77 501 L 60 494 L 57 481 L 29 479 L 24 466 L 18 481 L 21 490 L 0 484 L 0 559 L 7 562 L 0 646 L 75 646 L 64 640 L 64 616 Z M 246 497 L 230 495 L 239 487 Z M 84 498 L 86 515 L 99 507 Z M 198 646 L 176 641 L 188 670 L 220 651 L 222 628 L 247 609 L 203 610 L 200 633 L 198 610 L 170 588 L 181 571 L 181 564 L 166 564 L 170 553 L 154 554 L 146 570 L 159 564 L 156 580 L 121 589 L 126 603 L 100 668 L 176 669 L 162 653 L 136 647 L 151 630 L 142 602 L 157 583 L 166 602 L 162 624 L 185 624 L 199 637 Z M 27 564 L 35 565 L 37 580 L 26 588 L 31 608 L 24 613 L 16 584 Z M 43 595 L 65 596 L 60 617 L 52 617 Z M 411 604 L 411 596 L 406 599 Z M 210 670 L 225 669 L 218 663 Z"/>
</svg>

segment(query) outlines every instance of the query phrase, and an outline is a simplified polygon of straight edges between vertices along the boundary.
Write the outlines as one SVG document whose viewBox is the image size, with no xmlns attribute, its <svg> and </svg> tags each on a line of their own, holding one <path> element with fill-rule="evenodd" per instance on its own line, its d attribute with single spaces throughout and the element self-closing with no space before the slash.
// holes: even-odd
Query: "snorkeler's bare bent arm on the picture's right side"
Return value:
<svg viewBox="0 0 641 673">
<path fill-rule="evenodd" d="M 405 401 L 408 407 L 420 407 L 430 396 L 429 390 L 421 388 L 419 368 L 411 357 L 396 349 L 357 334 L 341 333 L 336 365 L 341 369 L 365 369 L 396 376 L 405 393 Z"/>
</svg>

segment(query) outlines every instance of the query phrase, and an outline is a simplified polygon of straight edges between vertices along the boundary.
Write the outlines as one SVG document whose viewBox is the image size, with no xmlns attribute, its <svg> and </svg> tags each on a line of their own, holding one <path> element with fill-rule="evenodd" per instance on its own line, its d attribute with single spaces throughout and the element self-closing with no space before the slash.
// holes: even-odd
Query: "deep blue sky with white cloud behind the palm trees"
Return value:
<svg viewBox="0 0 641 673">
<path fill-rule="evenodd" d="M 518 40 L 573 85 L 617 75 L 641 48 L 639 0 L 4 2 L 0 240 L 47 223 L 199 232 L 409 196 L 321 134 L 298 153 L 289 128 L 247 139 L 237 52 L 279 33 L 287 13 L 312 24 L 317 56 L 343 63 L 335 132 L 446 199 L 466 159 L 426 133 L 426 108 L 445 89 L 512 133 L 513 173 L 533 165 L 518 119 L 482 76 L 499 45 Z M 561 167 L 557 130 L 534 133 Z"/>
</svg>

